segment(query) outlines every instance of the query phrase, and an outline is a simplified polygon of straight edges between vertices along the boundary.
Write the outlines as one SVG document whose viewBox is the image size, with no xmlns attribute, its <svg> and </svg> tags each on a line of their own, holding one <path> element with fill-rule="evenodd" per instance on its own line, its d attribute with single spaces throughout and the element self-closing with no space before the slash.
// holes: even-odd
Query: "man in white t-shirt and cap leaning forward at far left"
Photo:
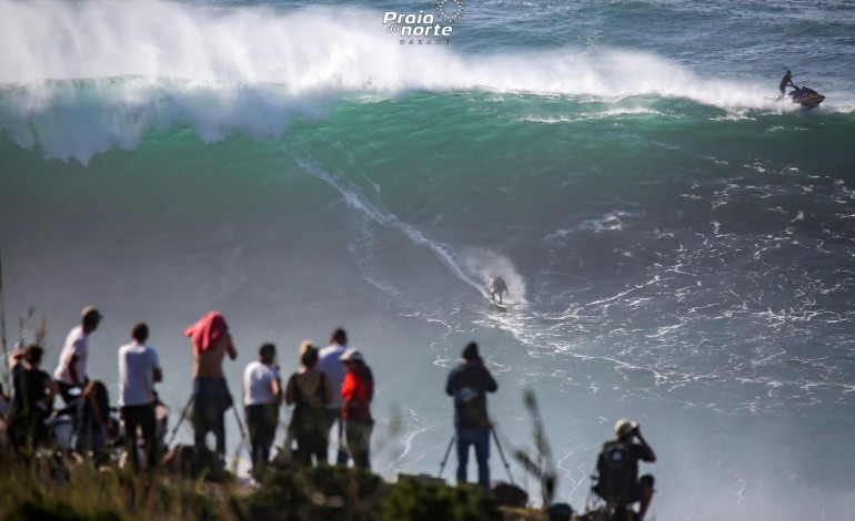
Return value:
<svg viewBox="0 0 855 521">
<path fill-rule="evenodd" d="M 87 376 L 87 362 L 89 360 L 89 336 L 98 329 L 103 315 L 98 308 L 88 306 L 80 314 L 80 325 L 74 326 L 66 338 L 66 345 L 59 355 L 57 370 L 53 378 L 57 380 L 59 392 L 66 403 L 71 403 L 80 397 L 80 392 L 89 381 Z M 73 392 L 72 389 L 77 389 Z"/>
</svg>

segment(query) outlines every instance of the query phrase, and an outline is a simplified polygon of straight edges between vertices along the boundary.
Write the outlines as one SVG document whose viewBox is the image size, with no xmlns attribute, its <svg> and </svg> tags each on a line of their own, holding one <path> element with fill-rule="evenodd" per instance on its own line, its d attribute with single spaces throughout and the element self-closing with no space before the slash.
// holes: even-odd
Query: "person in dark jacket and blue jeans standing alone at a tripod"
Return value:
<svg viewBox="0 0 855 521">
<path fill-rule="evenodd" d="M 457 484 L 466 482 L 469 448 L 475 448 L 477 483 L 490 490 L 490 429 L 486 394 L 499 389 L 477 351 L 477 344 L 463 349 L 463 360 L 451 370 L 445 392 L 454 397 L 454 428 L 457 440 Z"/>
</svg>

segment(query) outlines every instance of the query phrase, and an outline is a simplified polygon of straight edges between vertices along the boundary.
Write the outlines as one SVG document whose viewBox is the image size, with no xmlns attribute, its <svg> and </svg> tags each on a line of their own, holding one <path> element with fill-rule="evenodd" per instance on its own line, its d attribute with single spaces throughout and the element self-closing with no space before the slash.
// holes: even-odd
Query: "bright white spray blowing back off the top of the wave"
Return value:
<svg viewBox="0 0 855 521">
<path fill-rule="evenodd" d="M 698 78 L 651 53 L 572 48 L 461 55 L 401 45 L 383 13 L 354 8 L 214 10 L 151 0 L 0 0 L 0 83 L 143 76 L 276 85 L 288 95 L 489 90 L 654 95 L 767 109 L 768 85 Z"/>
</svg>

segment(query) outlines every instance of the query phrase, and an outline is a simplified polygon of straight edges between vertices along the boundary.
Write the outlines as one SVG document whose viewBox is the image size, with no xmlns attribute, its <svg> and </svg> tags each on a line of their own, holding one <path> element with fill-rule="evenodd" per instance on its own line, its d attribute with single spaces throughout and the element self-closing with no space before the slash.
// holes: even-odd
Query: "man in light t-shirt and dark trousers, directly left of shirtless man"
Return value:
<svg viewBox="0 0 855 521">
<path fill-rule="evenodd" d="M 124 437 L 134 469 L 137 430 L 142 430 L 145 469 L 152 471 L 158 462 L 157 418 L 158 395 L 154 384 L 163 380 L 158 354 L 145 345 L 149 326 L 139 323 L 131 331 L 133 341 L 119 348 L 119 407 L 124 420 Z"/>
</svg>

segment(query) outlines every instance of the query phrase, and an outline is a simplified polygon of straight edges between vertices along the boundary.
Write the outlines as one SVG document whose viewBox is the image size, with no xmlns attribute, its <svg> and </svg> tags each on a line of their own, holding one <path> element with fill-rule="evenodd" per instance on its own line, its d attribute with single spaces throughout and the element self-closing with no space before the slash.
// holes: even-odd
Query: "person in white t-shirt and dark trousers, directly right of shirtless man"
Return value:
<svg viewBox="0 0 855 521">
<path fill-rule="evenodd" d="M 264 344 L 259 359 L 243 371 L 243 408 L 250 431 L 252 476 L 261 476 L 270 461 L 270 447 L 276 437 L 279 405 L 282 402 L 282 382 L 274 365 L 276 346 Z"/>
</svg>

